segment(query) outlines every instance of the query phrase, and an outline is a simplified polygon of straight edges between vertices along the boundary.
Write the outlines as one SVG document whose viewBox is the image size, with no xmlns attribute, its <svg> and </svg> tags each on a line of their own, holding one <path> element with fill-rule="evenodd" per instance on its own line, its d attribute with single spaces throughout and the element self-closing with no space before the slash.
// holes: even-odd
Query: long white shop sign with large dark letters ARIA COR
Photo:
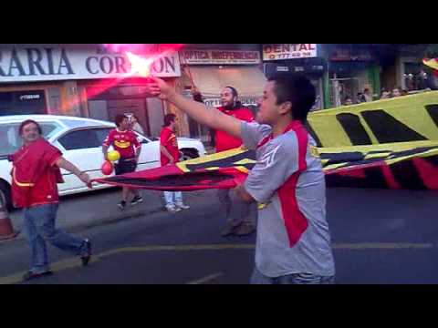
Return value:
<svg viewBox="0 0 438 328">
<path fill-rule="evenodd" d="M 157 77 L 181 77 L 177 52 L 156 57 L 151 64 L 151 74 Z M 0 48 L 0 83 L 136 77 L 130 71 L 130 60 L 124 53 L 102 48 Z"/>
</svg>

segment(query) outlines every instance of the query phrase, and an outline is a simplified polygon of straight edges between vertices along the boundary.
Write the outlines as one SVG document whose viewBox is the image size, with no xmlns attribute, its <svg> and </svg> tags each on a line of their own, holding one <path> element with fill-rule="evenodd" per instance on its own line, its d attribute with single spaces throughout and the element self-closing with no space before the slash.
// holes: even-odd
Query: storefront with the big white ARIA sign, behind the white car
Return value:
<svg viewBox="0 0 438 328">
<path fill-rule="evenodd" d="M 124 52 L 101 45 L 1 45 L 0 115 L 52 114 L 112 121 L 119 113 L 139 118 L 145 134 L 158 136 L 167 108 L 148 97 L 146 80 L 131 72 Z M 181 77 L 177 52 L 151 70 L 174 84 Z"/>
</svg>

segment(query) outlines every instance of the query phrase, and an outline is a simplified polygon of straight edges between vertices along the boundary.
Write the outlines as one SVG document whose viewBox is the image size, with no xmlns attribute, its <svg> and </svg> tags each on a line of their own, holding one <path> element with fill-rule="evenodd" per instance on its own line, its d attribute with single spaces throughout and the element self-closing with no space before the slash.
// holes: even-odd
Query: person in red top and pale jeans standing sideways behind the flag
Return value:
<svg viewBox="0 0 438 328">
<path fill-rule="evenodd" d="M 175 136 L 176 116 L 167 114 L 164 117 L 164 126 L 160 133 L 160 160 L 162 166 L 173 165 L 180 159 L 180 149 Z M 184 205 L 181 191 L 164 191 L 166 209 L 172 213 L 180 210 L 188 210 L 190 206 Z"/>
</svg>

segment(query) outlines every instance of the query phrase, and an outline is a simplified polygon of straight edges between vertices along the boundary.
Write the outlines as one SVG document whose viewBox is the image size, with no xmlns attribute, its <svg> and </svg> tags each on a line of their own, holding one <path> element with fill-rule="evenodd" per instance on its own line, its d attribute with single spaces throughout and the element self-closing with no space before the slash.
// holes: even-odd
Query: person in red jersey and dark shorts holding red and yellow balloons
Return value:
<svg viewBox="0 0 438 328">
<path fill-rule="evenodd" d="M 111 130 L 108 137 L 103 141 L 103 156 L 108 160 L 108 149 L 112 146 L 114 150 L 120 153 L 119 162 L 115 165 L 116 175 L 134 172 L 135 169 L 137 169 L 137 163 L 141 153 L 141 144 L 139 140 L 137 140 L 136 134 L 130 130 L 128 117 L 119 114 L 116 116 L 115 123 L 117 128 Z M 130 200 L 131 205 L 143 201 L 138 190 L 123 187 L 121 190 L 121 201 L 119 203 L 120 210 L 125 210 L 126 200 L 130 192 L 134 194 L 134 198 Z"/>
</svg>

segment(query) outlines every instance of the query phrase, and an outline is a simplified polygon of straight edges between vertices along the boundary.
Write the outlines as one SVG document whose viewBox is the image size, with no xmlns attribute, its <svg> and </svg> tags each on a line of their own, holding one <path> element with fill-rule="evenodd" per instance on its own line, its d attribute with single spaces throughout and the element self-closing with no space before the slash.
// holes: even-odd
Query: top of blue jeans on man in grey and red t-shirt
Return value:
<svg viewBox="0 0 438 328">
<path fill-rule="evenodd" d="M 335 276 L 318 276 L 312 273 L 293 273 L 280 277 L 266 277 L 257 268 L 251 277 L 251 284 L 334 284 Z"/>
</svg>

